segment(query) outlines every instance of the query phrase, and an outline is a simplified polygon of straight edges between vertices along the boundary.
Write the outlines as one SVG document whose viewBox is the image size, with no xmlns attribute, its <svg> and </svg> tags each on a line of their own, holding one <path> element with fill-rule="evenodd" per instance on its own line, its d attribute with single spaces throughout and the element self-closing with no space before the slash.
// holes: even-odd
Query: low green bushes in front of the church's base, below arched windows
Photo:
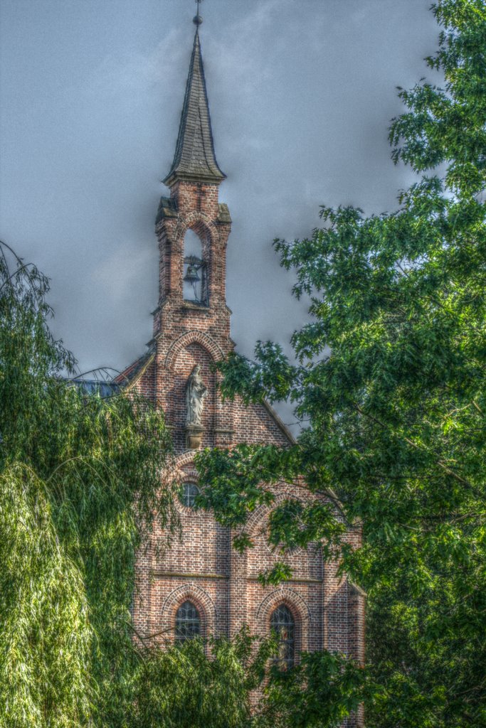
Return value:
<svg viewBox="0 0 486 728">
<path fill-rule="evenodd" d="M 375 686 L 340 654 L 273 667 L 276 635 L 199 638 L 144 653 L 133 725 L 143 728 L 337 728 Z"/>
</svg>

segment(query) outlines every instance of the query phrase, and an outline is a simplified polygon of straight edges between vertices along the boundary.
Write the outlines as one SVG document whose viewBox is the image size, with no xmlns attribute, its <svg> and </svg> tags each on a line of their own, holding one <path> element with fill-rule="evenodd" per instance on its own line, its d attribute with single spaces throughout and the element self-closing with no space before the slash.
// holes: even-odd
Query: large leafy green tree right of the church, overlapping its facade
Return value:
<svg viewBox="0 0 486 728">
<path fill-rule="evenodd" d="M 444 87 L 399 90 L 393 160 L 422 175 L 393 214 L 323 207 L 305 240 L 275 241 L 310 296 L 294 333 L 297 363 L 259 342 L 256 360 L 219 365 L 222 391 L 294 403 L 309 426 L 286 449 L 237 446 L 198 459 L 200 504 L 238 526 L 273 498 L 264 483 L 304 477 L 329 496 L 277 507 L 270 542 L 323 539 L 369 594 L 369 660 L 380 686 L 369 726 L 486 724 L 486 11 L 439 0 Z M 360 519 L 341 542 L 332 507 Z M 298 516 L 298 521 L 297 521 Z M 281 565 L 264 578 L 289 574 Z"/>
</svg>

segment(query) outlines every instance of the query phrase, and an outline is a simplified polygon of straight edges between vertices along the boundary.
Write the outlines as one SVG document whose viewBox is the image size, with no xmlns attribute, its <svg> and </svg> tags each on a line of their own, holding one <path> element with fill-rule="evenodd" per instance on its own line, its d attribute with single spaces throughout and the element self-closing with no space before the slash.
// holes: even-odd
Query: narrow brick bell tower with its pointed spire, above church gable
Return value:
<svg viewBox="0 0 486 728">
<path fill-rule="evenodd" d="M 178 452 L 232 442 L 230 411 L 219 401 L 215 375 L 210 369 L 213 360 L 232 349 L 225 290 L 231 218 L 227 205 L 219 202 L 219 185 L 225 175 L 214 153 L 199 15 L 195 20 L 198 22 L 176 152 L 164 179 L 171 194 L 160 199 L 155 223 L 160 266 L 154 341 L 158 371 L 163 372 L 161 379 L 157 379 L 157 395 L 174 427 Z M 186 362 L 200 365 L 203 381 L 207 382 L 200 423 L 184 423 L 181 409 L 185 405 L 186 381 L 172 376 L 172 364 L 176 363 L 180 347 L 186 351 Z"/>
</svg>

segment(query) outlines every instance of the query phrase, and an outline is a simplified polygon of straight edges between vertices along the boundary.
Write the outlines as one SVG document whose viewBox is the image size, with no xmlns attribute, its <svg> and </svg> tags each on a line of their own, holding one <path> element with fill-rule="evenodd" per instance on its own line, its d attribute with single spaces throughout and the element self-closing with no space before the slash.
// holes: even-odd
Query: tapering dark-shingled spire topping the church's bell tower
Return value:
<svg viewBox="0 0 486 728">
<path fill-rule="evenodd" d="M 219 169 L 214 154 L 213 132 L 211 131 L 203 56 L 199 40 L 199 26 L 203 22 L 199 15 L 199 5 L 194 22 L 196 34 L 189 76 L 187 76 L 176 154 L 174 154 L 171 171 L 163 180 L 168 186 L 178 179 L 195 182 L 221 182 L 226 177 Z"/>
</svg>

